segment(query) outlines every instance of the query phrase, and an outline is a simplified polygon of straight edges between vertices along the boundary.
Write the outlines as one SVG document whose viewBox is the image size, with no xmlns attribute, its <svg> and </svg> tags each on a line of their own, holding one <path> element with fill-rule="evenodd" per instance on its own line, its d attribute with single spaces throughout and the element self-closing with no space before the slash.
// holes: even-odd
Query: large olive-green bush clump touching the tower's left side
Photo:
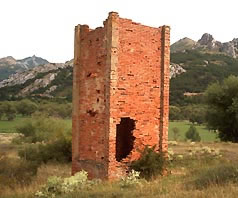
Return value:
<svg viewBox="0 0 238 198">
<path fill-rule="evenodd" d="M 67 128 L 63 120 L 37 114 L 17 127 L 17 132 L 24 135 L 22 142 L 35 143 L 19 151 L 21 158 L 38 164 L 71 161 L 71 128 Z"/>
</svg>

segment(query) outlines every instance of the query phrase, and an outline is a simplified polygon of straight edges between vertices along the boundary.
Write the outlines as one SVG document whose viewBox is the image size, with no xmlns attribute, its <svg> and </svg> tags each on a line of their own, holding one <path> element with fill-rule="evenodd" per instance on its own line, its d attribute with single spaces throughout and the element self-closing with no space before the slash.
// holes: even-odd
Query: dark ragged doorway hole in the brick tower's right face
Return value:
<svg viewBox="0 0 238 198">
<path fill-rule="evenodd" d="M 135 120 L 130 118 L 121 118 L 120 124 L 116 128 L 116 160 L 119 162 L 131 152 L 135 137 Z"/>
</svg>

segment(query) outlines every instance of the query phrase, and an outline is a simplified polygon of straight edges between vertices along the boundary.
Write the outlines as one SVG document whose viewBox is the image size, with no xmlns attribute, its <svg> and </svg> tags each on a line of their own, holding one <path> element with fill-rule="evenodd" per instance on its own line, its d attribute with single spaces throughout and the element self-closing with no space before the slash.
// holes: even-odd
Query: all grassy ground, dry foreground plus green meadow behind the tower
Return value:
<svg viewBox="0 0 238 198">
<path fill-rule="evenodd" d="M 34 193 L 50 176 L 69 177 L 71 164 L 51 162 L 41 164 L 37 175 L 29 185 L 6 185 L 7 176 L 1 160 L 8 157 L 10 161 L 19 159 L 17 151 L 26 145 L 11 143 L 11 139 L 18 134 L 13 134 L 15 127 L 27 118 L 17 118 L 14 121 L 0 122 L 0 197 L 1 198 L 35 198 Z M 7 123 L 7 124 L 2 124 Z M 71 120 L 65 120 L 67 126 Z M 173 140 L 171 129 L 178 127 L 180 140 L 190 126 L 189 122 L 170 122 L 169 139 Z M 236 198 L 238 194 L 238 144 L 214 142 L 215 135 L 204 126 L 196 126 L 202 142 L 190 143 L 178 141 L 169 144 L 173 151 L 171 161 L 167 166 L 167 175 L 158 176 L 150 181 L 139 180 L 139 184 L 122 187 L 120 181 L 102 181 L 94 186 L 83 187 L 72 193 L 57 195 L 57 198 Z M 2 166 L 2 167 L 1 167 Z M 10 164 L 5 165 L 8 170 Z M 13 165 L 11 165 L 13 168 Z M 12 169 L 13 170 L 13 169 Z M 22 169 L 20 172 L 29 169 Z M 24 172 L 25 173 L 25 172 Z M 4 182 L 3 182 L 4 181 Z M 12 181 L 10 181 L 10 184 Z"/>
</svg>

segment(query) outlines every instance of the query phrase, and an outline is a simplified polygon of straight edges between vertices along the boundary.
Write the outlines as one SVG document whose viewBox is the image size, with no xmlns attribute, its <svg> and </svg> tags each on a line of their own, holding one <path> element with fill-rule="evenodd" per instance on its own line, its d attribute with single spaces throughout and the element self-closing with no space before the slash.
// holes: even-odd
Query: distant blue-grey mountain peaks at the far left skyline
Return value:
<svg viewBox="0 0 238 198">
<path fill-rule="evenodd" d="M 7 79 L 11 74 L 23 72 L 39 65 L 49 63 L 47 60 L 32 56 L 21 60 L 16 60 L 12 56 L 0 59 L 0 81 Z"/>
</svg>

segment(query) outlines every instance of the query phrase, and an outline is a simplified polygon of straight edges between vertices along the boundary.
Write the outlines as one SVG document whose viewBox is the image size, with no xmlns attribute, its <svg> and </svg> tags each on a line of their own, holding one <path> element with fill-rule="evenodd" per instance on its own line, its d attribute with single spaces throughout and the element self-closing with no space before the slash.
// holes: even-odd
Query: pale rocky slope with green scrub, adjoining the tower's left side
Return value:
<svg viewBox="0 0 238 198">
<path fill-rule="evenodd" d="M 12 74 L 9 78 L 0 81 L 0 98 L 29 95 L 53 97 L 54 94 L 51 94 L 59 90 L 66 93 L 62 87 L 70 85 L 72 89 L 72 70 L 73 60 L 66 63 L 47 63 Z M 71 95 L 72 90 L 69 92 Z"/>
</svg>

